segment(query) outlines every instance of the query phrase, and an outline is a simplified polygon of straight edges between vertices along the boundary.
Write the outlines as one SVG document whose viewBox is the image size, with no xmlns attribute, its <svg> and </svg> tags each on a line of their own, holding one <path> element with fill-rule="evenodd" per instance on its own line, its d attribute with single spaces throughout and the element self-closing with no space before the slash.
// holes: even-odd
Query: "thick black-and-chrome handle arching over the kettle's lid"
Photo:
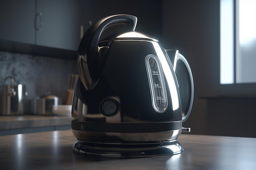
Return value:
<svg viewBox="0 0 256 170">
<path fill-rule="evenodd" d="M 79 76 L 87 90 L 92 89 L 99 79 L 102 58 L 98 55 L 98 43 L 101 34 L 108 27 L 117 24 L 125 24 L 128 31 L 135 31 L 137 17 L 124 14 L 111 15 L 92 24 L 83 35 L 78 48 L 77 64 Z"/>
</svg>

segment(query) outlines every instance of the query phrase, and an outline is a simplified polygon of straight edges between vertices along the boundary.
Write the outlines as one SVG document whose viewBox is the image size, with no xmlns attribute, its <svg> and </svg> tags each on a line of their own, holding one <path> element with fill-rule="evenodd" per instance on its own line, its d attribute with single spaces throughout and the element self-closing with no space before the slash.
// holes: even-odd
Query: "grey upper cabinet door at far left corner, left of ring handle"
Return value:
<svg viewBox="0 0 256 170">
<path fill-rule="evenodd" d="M 2 0 L 0 2 L 0 39 L 35 43 L 34 0 Z"/>
</svg>

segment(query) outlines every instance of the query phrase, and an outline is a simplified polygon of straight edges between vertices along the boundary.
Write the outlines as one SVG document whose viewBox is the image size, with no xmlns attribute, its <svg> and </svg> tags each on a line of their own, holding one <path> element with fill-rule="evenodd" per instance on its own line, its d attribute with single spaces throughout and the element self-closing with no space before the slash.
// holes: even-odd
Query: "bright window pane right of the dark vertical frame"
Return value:
<svg viewBox="0 0 256 170">
<path fill-rule="evenodd" d="M 237 0 L 236 83 L 256 82 L 256 0 Z"/>
</svg>

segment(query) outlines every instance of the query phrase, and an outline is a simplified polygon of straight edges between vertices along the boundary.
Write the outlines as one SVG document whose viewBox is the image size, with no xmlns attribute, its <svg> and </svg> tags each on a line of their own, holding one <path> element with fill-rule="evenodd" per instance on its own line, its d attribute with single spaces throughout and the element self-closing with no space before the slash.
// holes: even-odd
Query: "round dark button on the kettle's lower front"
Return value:
<svg viewBox="0 0 256 170">
<path fill-rule="evenodd" d="M 112 98 L 103 99 L 99 105 L 99 111 L 107 117 L 115 116 L 119 110 L 119 102 Z"/>
</svg>

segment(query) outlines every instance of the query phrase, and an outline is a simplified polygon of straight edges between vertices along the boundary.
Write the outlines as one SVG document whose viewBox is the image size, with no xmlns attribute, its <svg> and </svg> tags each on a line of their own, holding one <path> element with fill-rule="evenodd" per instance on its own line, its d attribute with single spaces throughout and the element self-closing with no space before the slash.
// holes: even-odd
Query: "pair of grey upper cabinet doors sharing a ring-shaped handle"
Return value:
<svg viewBox="0 0 256 170">
<path fill-rule="evenodd" d="M 0 40 L 77 51 L 81 0 L 0 2 Z"/>
</svg>

